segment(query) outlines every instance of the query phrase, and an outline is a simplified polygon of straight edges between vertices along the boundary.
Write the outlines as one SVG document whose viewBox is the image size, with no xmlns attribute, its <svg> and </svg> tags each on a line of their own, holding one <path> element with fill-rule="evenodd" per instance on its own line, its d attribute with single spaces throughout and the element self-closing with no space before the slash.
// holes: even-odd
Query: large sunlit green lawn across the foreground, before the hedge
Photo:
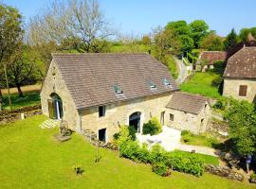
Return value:
<svg viewBox="0 0 256 189">
<path fill-rule="evenodd" d="M 40 129 L 43 115 L 0 126 L 0 188 L 255 188 L 255 185 L 227 180 L 205 173 L 196 178 L 173 172 L 162 178 L 151 166 L 118 157 L 100 149 L 101 161 L 94 163 L 96 149 L 74 133 L 59 143 L 58 129 Z M 85 172 L 76 176 L 74 165 Z"/>
</svg>

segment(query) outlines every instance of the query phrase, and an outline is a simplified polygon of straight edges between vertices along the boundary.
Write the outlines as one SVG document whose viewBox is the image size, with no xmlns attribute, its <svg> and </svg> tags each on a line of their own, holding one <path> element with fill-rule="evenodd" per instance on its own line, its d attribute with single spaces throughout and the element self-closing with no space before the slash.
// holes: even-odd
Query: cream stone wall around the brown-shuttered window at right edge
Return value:
<svg viewBox="0 0 256 189">
<path fill-rule="evenodd" d="M 239 96 L 239 86 L 247 85 L 247 96 Z M 232 96 L 238 100 L 248 100 L 252 102 L 255 100 L 256 96 L 256 79 L 247 79 L 247 78 L 225 78 L 224 79 L 224 88 L 223 95 Z"/>
</svg>

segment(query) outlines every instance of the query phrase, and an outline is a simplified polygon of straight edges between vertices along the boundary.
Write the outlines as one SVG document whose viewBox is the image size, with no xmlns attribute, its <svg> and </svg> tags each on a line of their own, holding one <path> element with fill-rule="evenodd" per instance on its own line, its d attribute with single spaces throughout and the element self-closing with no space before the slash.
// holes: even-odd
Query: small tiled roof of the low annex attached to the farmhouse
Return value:
<svg viewBox="0 0 256 189">
<path fill-rule="evenodd" d="M 202 95 L 175 92 L 166 108 L 199 114 L 208 99 Z"/>
</svg>

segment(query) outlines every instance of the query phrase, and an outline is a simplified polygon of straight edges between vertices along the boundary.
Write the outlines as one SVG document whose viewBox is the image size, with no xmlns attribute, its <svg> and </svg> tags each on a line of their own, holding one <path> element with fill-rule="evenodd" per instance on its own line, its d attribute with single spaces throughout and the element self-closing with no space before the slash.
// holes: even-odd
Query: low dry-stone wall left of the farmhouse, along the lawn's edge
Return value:
<svg viewBox="0 0 256 189">
<path fill-rule="evenodd" d="M 0 125 L 21 119 L 21 113 L 24 113 L 25 118 L 36 114 L 42 114 L 41 105 L 30 106 L 13 111 L 0 112 Z"/>
</svg>

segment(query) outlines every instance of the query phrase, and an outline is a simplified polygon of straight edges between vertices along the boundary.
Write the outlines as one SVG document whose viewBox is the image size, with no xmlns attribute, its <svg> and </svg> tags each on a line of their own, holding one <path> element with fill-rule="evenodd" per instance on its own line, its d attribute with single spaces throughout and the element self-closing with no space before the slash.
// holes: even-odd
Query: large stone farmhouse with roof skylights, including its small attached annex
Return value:
<svg viewBox="0 0 256 189">
<path fill-rule="evenodd" d="M 110 142 L 120 125 L 135 126 L 153 116 L 162 125 L 207 128 L 207 99 L 178 91 L 169 70 L 148 54 L 53 54 L 41 90 L 43 113 L 69 129 L 89 129 Z"/>
</svg>

